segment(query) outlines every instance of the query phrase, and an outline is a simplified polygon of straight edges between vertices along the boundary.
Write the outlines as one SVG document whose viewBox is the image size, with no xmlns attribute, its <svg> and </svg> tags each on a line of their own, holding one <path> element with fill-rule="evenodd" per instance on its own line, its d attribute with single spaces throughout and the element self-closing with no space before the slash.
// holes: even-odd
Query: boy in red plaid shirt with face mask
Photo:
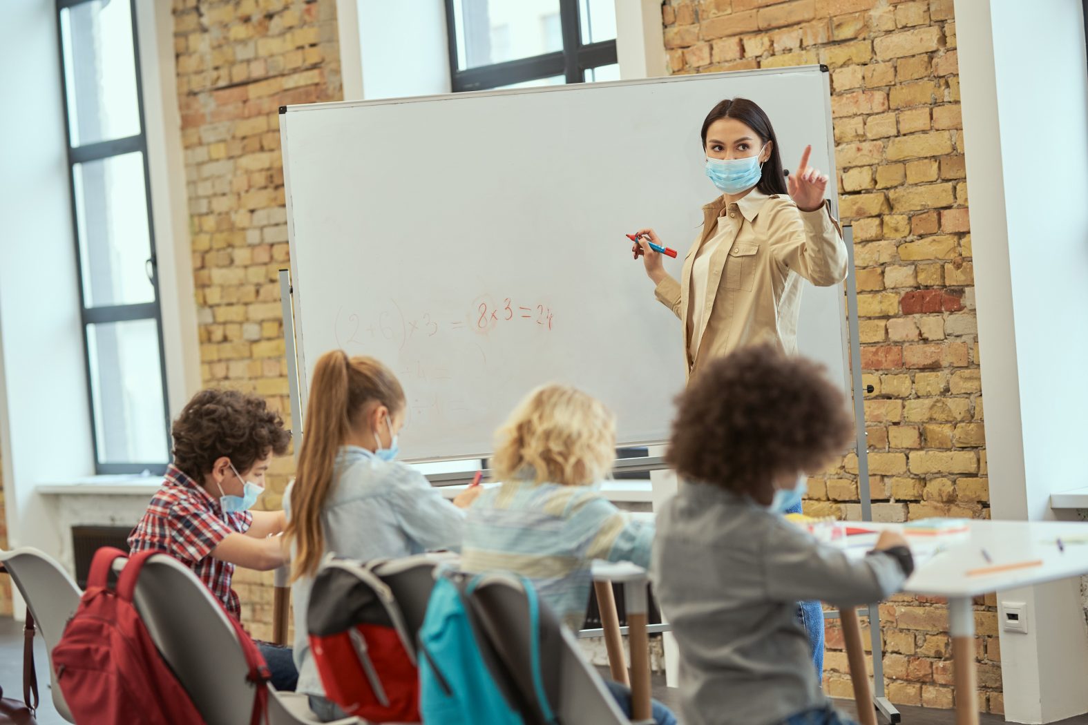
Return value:
<svg viewBox="0 0 1088 725">
<path fill-rule="evenodd" d="M 201 390 L 172 430 L 174 461 L 128 546 L 163 551 L 189 566 L 235 617 L 234 567 L 269 571 L 287 561 L 281 545 L 283 511 L 249 511 L 264 487 L 273 453 L 287 452 L 290 434 L 262 398 L 236 390 Z M 294 690 L 298 673 L 286 648 L 258 642 L 272 685 Z"/>
</svg>

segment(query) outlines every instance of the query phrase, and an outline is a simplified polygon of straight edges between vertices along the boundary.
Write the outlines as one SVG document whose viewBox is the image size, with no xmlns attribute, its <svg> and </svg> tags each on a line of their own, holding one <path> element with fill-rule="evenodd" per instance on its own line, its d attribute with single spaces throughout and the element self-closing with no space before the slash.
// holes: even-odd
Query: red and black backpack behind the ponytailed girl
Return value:
<svg viewBox="0 0 1088 725">
<path fill-rule="evenodd" d="M 419 723 L 413 637 L 393 592 L 367 564 L 329 559 L 306 613 L 325 697 L 370 723 Z"/>
</svg>

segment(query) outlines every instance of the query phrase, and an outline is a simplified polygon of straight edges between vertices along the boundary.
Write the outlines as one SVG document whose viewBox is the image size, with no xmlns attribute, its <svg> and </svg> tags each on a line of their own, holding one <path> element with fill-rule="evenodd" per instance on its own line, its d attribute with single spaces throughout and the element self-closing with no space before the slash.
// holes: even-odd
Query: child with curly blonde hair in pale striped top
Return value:
<svg viewBox="0 0 1088 725">
<path fill-rule="evenodd" d="M 546 385 L 529 393 L 496 434 L 500 486 L 468 510 L 461 567 L 529 578 L 540 598 L 578 629 L 594 559 L 650 565 L 652 524 L 634 521 L 597 492 L 616 457 L 616 418 L 581 390 Z M 608 683 L 630 715 L 630 692 Z M 654 703 L 657 723 L 676 723 Z"/>
</svg>

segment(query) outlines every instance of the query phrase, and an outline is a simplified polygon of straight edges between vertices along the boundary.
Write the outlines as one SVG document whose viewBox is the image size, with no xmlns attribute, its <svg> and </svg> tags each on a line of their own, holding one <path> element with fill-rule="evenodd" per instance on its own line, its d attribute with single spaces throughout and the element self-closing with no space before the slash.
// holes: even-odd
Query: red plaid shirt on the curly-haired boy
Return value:
<svg viewBox="0 0 1088 725">
<path fill-rule="evenodd" d="M 219 499 L 171 464 L 162 488 L 128 535 L 128 547 L 133 553 L 154 550 L 174 557 L 191 568 L 226 611 L 237 617 L 242 605 L 231 588 L 234 564 L 209 554 L 227 535 L 244 534 L 252 523 L 248 511 L 224 514 Z"/>
</svg>

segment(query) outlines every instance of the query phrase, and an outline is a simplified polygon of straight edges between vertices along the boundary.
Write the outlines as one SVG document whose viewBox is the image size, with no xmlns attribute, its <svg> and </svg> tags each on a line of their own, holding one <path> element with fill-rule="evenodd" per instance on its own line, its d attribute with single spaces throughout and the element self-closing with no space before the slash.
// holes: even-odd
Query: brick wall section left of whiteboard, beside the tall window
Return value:
<svg viewBox="0 0 1088 725">
<path fill-rule="evenodd" d="M 335 0 L 174 0 L 177 102 L 201 379 L 287 399 L 279 270 L 287 266 L 279 107 L 342 100 Z M 280 509 L 276 459 L 261 507 Z M 271 574 L 235 575 L 243 618 L 271 636 Z"/>
</svg>

